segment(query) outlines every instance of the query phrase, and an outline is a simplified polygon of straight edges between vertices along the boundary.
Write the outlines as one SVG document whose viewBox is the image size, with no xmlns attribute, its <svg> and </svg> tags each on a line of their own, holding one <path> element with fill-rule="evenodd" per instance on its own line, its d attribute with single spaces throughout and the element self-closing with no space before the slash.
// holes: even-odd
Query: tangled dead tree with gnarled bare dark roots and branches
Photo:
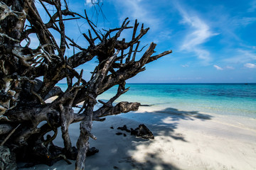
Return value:
<svg viewBox="0 0 256 170">
<path fill-rule="evenodd" d="M 136 111 L 140 103 L 114 101 L 129 88 L 125 81 L 145 70 L 145 65 L 168 55 L 171 50 L 153 55 L 156 44 L 151 42 L 139 60 L 136 59 L 140 39 L 149 28 L 139 23 L 128 26 L 128 18 L 122 26 L 110 30 L 98 30 L 85 15 L 72 12 L 64 1 L 38 0 L 50 20 L 44 23 L 32 0 L 0 1 L 0 142 L 16 153 L 17 159 L 38 159 L 38 161 L 57 158 L 76 159 L 76 169 L 84 169 L 89 137 L 92 134 L 92 121 L 103 121 L 107 115 L 117 115 Z M 63 5 L 63 4 L 64 5 Z M 47 6 L 52 6 L 55 13 L 50 14 Z M 63 16 L 69 19 L 87 21 L 87 34 L 83 34 L 89 46 L 85 49 L 65 34 Z M 30 26 L 25 26 L 25 22 Z M 50 29 L 60 35 L 60 43 Z M 119 40 L 124 30 L 133 29 L 132 40 Z M 137 30 L 139 29 L 139 33 Z M 103 32 L 103 33 L 102 33 Z M 40 42 L 36 49 L 31 49 L 29 35 L 35 33 Z M 25 46 L 21 45 L 27 40 Z M 73 47 L 79 52 L 65 56 L 66 48 Z M 75 68 L 97 57 L 99 63 L 92 70 L 89 81 L 82 79 L 82 71 Z M 39 80 L 38 77 L 43 77 Z M 73 83 L 73 78 L 78 81 Z M 66 78 L 68 89 L 61 91 L 56 84 Z M 119 86 L 117 94 L 102 107 L 94 111 L 96 98 L 112 86 Z M 51 103 L 46 99 L 58 96 Z M 83 102 L 79 113 L 73 107 Z M 38 128 L 38 124 L 46 123 Z M 72 147 L 68 127 L 80 122 L 80 137 L 76 148 Z M 65 147 L 53 145 L 58 128 L 61 128 Z M 54 132 L 53 136 L 46 134 Z"/>
</svg>

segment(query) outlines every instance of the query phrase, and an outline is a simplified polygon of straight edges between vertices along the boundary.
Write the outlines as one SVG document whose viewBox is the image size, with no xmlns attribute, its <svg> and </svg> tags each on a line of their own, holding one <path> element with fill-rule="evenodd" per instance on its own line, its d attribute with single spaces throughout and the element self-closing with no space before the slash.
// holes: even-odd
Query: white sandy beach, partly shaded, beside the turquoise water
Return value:
<svg viewBox="0 0 256 170">
<path fill-rule="evenodd" d="M 256 120 L 230 116 L 141 107 L 137 113 L 107 117 L 93 124 L 96 141 L 90 146 L 100 152 L 88 157 L 86 169 L 256 169 Z M 144 123 L 154 140 L 144 140 L 117 130 L 137 128 Z M 110 127 L 114 127 L 111 129 Z M 70 127 L 73 145 L 79 124 Z M 117 132 L 126 133 L 116 135 Z M 60 138 L 60 133 L 58 134 Z M 63 146 L 60 139 L 56 145 Z M 30 169 L 74 169 L 75 162 Z"/>
</svg>

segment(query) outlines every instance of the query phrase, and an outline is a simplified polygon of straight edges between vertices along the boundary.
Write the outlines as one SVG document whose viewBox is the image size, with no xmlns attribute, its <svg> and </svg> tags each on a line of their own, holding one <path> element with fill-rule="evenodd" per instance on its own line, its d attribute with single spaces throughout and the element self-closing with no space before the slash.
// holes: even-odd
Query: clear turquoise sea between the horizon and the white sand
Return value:
<svg viewBox="0 0 256 170">
<path fill-rule="evenodd" d="M 66 84 L 58 84 L 63 90 Z M 117 87 L 106 91 L 97 99 L 107 101 Z M 127 84 L 126 94 L 116 102 L 139 102 L 179 111 L 196 111 L 220 115 L 238 115 L 256 119 L 256 84 Z"/>
</svg>

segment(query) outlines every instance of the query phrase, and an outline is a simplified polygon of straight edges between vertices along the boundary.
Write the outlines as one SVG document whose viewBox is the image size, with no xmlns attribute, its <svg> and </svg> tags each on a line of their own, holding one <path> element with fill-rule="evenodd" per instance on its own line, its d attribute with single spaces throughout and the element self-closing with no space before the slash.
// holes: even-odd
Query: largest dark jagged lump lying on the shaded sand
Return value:
<svg viewBox="0 0 256 170">
<path fill-rule="evenodd" d="M 144 125 L 144 124 L 139 125 L 139 127 L 136 128 L 135 130 L 133 130 L 131 128 L 131 135 L 135 135 L 137 137 L 142 137 L 144 139 L 154 140 L 153 133 L 148 128 L 146 128 L 146 125 Z"/>
</svg>

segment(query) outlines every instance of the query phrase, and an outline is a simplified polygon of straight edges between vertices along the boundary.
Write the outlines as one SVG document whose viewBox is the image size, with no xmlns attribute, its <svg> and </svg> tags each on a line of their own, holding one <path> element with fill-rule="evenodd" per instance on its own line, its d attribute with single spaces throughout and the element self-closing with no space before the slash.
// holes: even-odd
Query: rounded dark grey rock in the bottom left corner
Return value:
<svg viewBox="0 0 256 170">
<path fill-rule="evenodd" d="M 0 146 L 0 169 L 14 170 L 17 169 L 15 154 L 8 147 Z"/>
</svg>

